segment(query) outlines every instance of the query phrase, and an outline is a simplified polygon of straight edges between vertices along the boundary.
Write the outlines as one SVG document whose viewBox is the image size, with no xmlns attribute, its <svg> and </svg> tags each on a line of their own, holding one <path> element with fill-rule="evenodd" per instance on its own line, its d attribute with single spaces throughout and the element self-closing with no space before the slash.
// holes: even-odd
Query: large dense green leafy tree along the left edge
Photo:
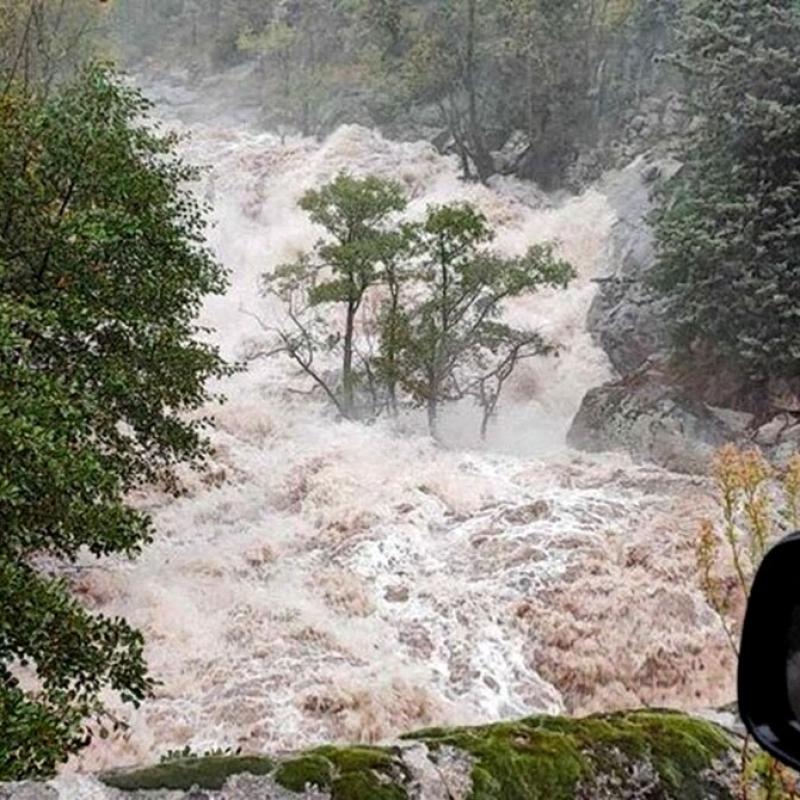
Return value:
<svg viewBox="0 0 800 800">
<path fill-rule="evenodd" d="M 90 614 L 57 566 L 148 542 L 125 497 L 202 459 L 184 412 L 227 372 L 194 322 L 225 286 L 196 173 L 147 110 L 102 67 L 0 98 L 0 779 L 102 735 L 101 692 L 150 691 L 141 635 Z"/>
</svg>

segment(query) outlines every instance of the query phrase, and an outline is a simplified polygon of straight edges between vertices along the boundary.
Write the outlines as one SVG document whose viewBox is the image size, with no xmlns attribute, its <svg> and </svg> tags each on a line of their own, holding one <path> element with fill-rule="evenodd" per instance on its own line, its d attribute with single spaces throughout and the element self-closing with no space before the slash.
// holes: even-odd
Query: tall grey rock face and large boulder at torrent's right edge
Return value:
<svg viewBox="0 0 800 800">
<path fill-rule="evenodd" d="M 588 327 L 618 377 L 584 398 L 569 443 L 591 452 L 625 450 L 635 459 L 677 472 L 704 472 L 716 449 L 745 437 L 747 415 L 720 412 L 669 375 L 668 310 L 651 289 L 655 241 L 648 217 L 661 182 L 680 164 L 642 157 L 602 185 L 617 215 L 609 241 L 608 273 Z M 735 394 L 737 387 L 731 391 Z"/>
</svg>

